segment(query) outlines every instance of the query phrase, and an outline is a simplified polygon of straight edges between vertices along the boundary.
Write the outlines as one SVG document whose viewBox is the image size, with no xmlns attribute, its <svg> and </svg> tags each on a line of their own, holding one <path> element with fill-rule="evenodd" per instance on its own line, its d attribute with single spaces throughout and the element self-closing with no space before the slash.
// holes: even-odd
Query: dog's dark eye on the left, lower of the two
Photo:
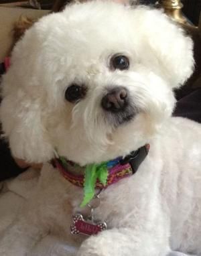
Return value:
<svg viewBox="0 0 201 256">
<path fill-rule="evenodd" d="M 86 95 L 86 86 L 78 85 L 78 84 L 72 84 L 70 85 L 65 92 L 65 98 L 67 101 L 70 101 L 70 103 L 74 103 L 78 101 L 79 99 L 84 98 Z"/>
</svg>

